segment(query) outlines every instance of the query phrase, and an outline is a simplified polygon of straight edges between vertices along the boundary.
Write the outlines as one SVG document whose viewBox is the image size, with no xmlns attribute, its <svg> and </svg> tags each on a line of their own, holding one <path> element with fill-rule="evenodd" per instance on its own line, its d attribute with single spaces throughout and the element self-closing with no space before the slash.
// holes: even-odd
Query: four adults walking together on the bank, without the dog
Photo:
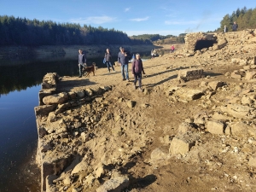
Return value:
<svg viewBox="0 0 256 192">
<path fill-rule="evenodd" d="M 110 53 L 109 49 L 106 49 L 106 53 L 104 55 L 104 63 L 108 67 L 108 73 L 110 73 L 110 68 L 112 68 L 113 72 L 115 72 L 114 67 L 111 63 L 112 55 Z M 128 73 L 128 63 L 130 61 L 130 56 L 125 51 L 124 47 L 119 48 L 119 54 L 118 54 L 118 62 L 119 66 L 121 68 L 121 74 L 123 80 L 126 80 L 129 82 L 129 73 Z M 86 55 L 82 49 L 79 49 L 79 78 L 82 77 L 82 67 L 86 67 Z M 131 66 L 131 73 L 134 77 L 134 89 L 137 89 L 137 81 L 138 81 L 138 88 L 139 90 L 142 90 L 142 74 L 145 74 L 143 69 L 143 61 L 141 60 L 140 55 L 137 53 L 135 55 L 135 58 L 133 58 L 132 66 Z"/>
</svg>

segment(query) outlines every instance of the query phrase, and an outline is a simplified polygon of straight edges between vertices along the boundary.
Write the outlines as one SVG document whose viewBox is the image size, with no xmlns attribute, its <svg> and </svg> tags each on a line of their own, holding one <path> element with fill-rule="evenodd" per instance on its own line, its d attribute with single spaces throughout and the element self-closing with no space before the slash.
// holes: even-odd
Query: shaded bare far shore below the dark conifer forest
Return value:
<svg viewBox="0 0 256 192">
<path fill-rule="evenodd" d="M 0 47 L 0 62 L 12 59 L 51 59 L 55 60 L 58 57 L 63 59 L 73 59 L 78 55 L 78 50 L 83 49 L 88 58 L 96 58 L 104 55 L 107 48 L 112 51 L 113 55 L 117 55 L 119 47 L 124 46 L 125 49 L 130 49 L 135 52 L 150 52 L 151 49 L 162 49 L 163 46 L 154 44 L 141 45 L 124 45 L 124 44 L 100 44 L 100 45 L 45 45 L 45 46 L 3 46 Z"/>
</svg>

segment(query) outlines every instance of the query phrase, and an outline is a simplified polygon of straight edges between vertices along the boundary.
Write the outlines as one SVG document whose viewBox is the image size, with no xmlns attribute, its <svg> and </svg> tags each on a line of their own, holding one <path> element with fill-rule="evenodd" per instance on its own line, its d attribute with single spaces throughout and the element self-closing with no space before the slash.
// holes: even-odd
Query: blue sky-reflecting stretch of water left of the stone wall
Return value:
<svg viewBox="0 0 256 192">
<path fill-rule="evenodd" d="M 27 191 L 20 168 L 31 159 L 37 145 L 33 108 L 38 105 L 39 90 L 40 86 L 32 86 L 0 98 L 0 191 Z M 32 174 L 36 172 L 30 173 L 35 177 Z"/>
</svg>

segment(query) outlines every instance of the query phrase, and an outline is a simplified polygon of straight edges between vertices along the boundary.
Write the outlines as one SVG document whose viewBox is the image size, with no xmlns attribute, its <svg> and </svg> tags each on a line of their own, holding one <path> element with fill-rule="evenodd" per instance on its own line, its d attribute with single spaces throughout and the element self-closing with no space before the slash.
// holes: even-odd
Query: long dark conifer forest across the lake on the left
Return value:
<svg viewBox="0 0 256 192">
<path fill-rule="evenodd" d="M 0 45 L 152 44 L 125 32 L 52 20 L 29 20 L 0 15 Z"/>
</svg>

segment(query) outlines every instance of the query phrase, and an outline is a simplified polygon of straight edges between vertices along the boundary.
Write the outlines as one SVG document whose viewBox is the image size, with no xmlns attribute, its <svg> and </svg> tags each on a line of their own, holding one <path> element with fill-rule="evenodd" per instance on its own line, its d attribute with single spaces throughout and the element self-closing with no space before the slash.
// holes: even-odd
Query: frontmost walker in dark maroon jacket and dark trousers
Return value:
<svg viewBox="0 0 256 192">
<path fill-rule="evenodd" d="M 142 76 L 145 74 L 143 69 L 143 61 L 141 56 L 137 53 L 135 61 L 132 62 L 131 67 L 132 75 L 134 76 L 134 89 L 136 90 L 137 80 L 139 82 L 139 90 L 142 90 Z M 142 74 L 143 73 L 143 74 Z"/>
</svg>

